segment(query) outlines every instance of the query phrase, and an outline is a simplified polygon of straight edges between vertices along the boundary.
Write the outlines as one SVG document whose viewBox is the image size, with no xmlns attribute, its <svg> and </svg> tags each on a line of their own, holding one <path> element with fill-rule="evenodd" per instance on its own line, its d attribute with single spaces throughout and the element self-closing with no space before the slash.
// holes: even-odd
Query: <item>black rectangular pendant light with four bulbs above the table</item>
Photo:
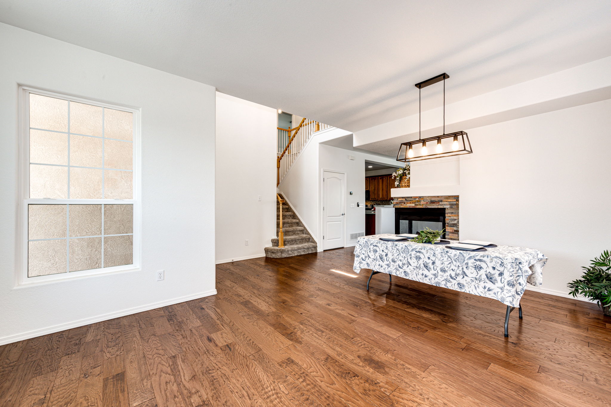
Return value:
<svg viewBox="0 0 611 407">
<path fill-rule="evenodd" d="M 431 79 L 426 79 L 426 81 L 415 84 L 415 87 L 418 88 L 418 140 L 401 143 L 399 152 L 397 153 L 397 161 L 421 161 L 473 153 L 471 143 L 469 142 L 469 135 L 467 135 L 466 132 L 455 131 L 445 134 L 445 79 L 448 79 L 448 77 L 450 77 L 450 75 L 442 73 L 441 75 L 431 77 Z M 444 134 L 422 139 L 422 137 L 420 137 L 420 133 L 422 132 L 422 104 L 420 103 L 420 92 L 422 88 L 441 81 L 444 82 Z"/>
</svg>

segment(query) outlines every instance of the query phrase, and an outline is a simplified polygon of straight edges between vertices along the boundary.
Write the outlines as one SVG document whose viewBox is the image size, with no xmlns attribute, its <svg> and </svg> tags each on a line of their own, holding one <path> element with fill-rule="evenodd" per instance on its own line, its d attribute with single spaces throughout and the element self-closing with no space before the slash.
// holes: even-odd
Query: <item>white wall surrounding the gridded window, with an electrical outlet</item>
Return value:
<svg viewBox="0 0 611 407">
<path fill-rule="evenodd" d="M 0 55 L 0 344 L 215 294 L 214 88 L 5 24 Z M 141 271 L 16 287 L 18 85 L 141 108 Z"/>
</svg>

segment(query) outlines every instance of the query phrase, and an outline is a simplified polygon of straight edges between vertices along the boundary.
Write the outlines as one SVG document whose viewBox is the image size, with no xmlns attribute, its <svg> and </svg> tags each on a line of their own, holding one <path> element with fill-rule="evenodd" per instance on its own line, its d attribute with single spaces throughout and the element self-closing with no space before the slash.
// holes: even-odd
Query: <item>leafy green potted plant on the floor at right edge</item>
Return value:
<svg viewBox="0 0 611 407">
<path fill-rule="evenodd" d="M 611 317 L 611 252 L 605 250 L 590 266 L 582 268 L 584 275 L 568 284 L 569 294 L 595 300 L 602 312 Z"/>
</svg>

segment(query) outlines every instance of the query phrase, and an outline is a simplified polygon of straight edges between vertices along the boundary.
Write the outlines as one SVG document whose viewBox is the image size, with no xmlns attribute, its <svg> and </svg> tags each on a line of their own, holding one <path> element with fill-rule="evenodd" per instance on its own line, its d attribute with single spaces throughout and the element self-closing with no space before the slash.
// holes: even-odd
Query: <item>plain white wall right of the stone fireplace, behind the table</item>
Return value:
<svg viewBox="0 0 611 407">
<path fill-rule="evenodd" d="M 460 237 L 531 247 L 543 288 L 566 293 L 611 249 L 611 100 L 468 131 L 460 159 Z M 431 160 L 434 161 L 434 160 Z"/>
</svg>

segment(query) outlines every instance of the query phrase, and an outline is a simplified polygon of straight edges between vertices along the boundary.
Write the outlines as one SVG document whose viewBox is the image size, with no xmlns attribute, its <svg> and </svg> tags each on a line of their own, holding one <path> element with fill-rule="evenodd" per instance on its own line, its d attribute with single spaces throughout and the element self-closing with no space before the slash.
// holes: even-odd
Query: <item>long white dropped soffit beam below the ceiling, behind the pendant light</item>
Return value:
<svg viewBox="0 0 611 407">
<path fill-rule="evenodd" d="M 463 99 L 445 109 L 445 132 L 469 131 L 501 121 L 611 98 L 611 57 Z M 397 157 L 400 143 L 442 134 L 443 107 L 354 132 L 354 149 Z"/>
</svg>

